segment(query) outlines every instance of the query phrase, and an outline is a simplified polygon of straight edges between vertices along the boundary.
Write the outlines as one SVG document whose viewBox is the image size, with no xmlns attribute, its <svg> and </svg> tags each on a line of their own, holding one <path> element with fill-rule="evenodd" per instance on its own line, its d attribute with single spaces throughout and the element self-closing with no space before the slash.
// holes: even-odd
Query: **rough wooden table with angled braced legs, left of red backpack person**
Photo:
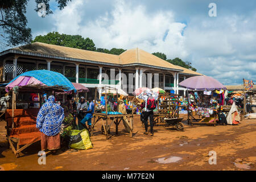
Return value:
<svg viewBox="0 0 256 182">
<path fill-rule="evenodd" d="M 129 122 L 127 122 L 123 117 L 129 118 Z M 96 119 L 97 118 L 97 119 Z M 105 113 L 93 113 L 93 123 L 91 136 L 93 135 L 94 126 L 100 119 L 105 121 L 104 134 L 106 135 L 106 139 L 108 139 L 108 134 L 110 131 L 110 127 L 115 124 L 115 134 L 118 134 L 118 125 L 121 121 L 125 122 L 130 129 L 130 137 L 133 137 L 133 114 L 105 114 Z M 110 125 L 108 124 L 110 120 Z"/>
</svg>

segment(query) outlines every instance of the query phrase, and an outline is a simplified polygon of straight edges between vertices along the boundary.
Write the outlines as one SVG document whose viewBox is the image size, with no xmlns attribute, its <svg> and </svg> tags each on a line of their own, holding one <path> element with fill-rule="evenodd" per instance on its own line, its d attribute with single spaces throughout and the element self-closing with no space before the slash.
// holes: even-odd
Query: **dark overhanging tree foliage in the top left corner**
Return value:
<svg viewBox="0 0 256 182">
<path fill-rule="evenodd" d="M 26 9 L 27 3 L 30 0 L 1 0 L 0 1 L 0 32 L 3 42 L 7 42 L 9 45 L 17 46 L 18 44 L 30 43 L 32 39 L 31 28 L 27 27 Z M 60 10 L 67 6 L 67 3 L 71 0 L 55 0 L 58 3 Z M 46 15 L 52 14 L 49 9 L 49 0 L 35 0 L 36 9 L 40 11 L 41 7 L 38 7 L 39 3 L 46 5 Z M 44 16 L 42 16 L 44 17 Z M 3 36 L 6 35 L 6 36 Z"/>
</svg>

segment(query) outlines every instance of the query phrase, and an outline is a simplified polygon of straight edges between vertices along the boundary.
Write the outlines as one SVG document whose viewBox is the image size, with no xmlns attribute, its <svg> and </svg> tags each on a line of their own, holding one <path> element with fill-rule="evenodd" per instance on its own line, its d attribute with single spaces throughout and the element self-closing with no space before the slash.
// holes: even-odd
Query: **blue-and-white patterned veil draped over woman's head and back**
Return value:
<svg viewBox="0 0 256 182">
<path fill-rule="evenodd" d="M 36 118 L 36 127 L 47 136 L 58 134 L 64 119 L 64 109 L 54 102 L 55 97 L 49 96 L 46 103 L 40 108 Z"/>
</svg>

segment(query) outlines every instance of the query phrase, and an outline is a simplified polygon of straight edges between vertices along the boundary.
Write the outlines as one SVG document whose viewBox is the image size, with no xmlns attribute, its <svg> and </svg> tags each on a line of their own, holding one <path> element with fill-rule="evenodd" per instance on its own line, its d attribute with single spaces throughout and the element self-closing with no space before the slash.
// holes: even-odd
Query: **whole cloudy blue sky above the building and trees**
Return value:
<svg viewBox="0 0 256 182">
<path fill-rule="evenodd" d="M 246 3 L 245 3 L 246 2 Z M 216 16 L 210 3 L 216 5 Z M 179 57 L 225 85 L 256 82 L 256 1 L 72 0 L 39 17 L 27 6 L 32 36 L 57 31 L 90 38 L 97 48 L 141 48 Z"/>
</svg>

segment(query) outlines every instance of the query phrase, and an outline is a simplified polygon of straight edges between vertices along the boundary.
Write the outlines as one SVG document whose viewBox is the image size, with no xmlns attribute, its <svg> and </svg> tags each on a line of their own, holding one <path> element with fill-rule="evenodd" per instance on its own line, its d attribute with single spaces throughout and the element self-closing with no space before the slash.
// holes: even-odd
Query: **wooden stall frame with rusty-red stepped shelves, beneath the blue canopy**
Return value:
<svg viewBox="0 0 256 182">
<path fill-rule="evenodd" d="M 36 128 L 36 117 L 40 108 L 31 109 L 16 109 L 18 103 L 38 103 L 39 106 L 43 103 L 43 94 L 51 94 L 52 92 L 64 92 L 66 89 L 63 86 L 41 86 L 41 85 L 26 85 L 15 87 L 15 90 L 10 90 L 12 96 L 11 109 L 6 110 L 6 131 L 7 141 L 11 150 L 18 158 L 20 152 L 31 144 L 41 139 L 41 133 Z M 16 98 L 25 93 L 38 94 L 38 101 L 18 101 Z"/>
</svg>

